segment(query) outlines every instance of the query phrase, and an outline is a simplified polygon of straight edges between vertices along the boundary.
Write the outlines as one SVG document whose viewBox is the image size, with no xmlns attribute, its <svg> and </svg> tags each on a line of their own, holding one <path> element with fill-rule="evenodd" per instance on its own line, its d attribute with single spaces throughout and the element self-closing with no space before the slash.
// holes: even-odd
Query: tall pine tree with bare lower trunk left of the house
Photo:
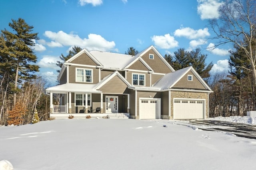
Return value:
<svg viewBox="0 0 256 170">
<path fill-rule="evenodd" d="M 36 63 L 36 55 L 32 50 L 35 45 L 34 40 L 39 39 L 38 33 L 32 33 L 33 26 L 28 25 L 25 20 L 19 18 L 17 21 L 12 19 L 9 26 L 14 33 L 7 29 L 1 30 L 0 36 L 0 56 L 1 72 L 8 72 L 10 76 L 15 75 L 14 79 L 14 106 L 16 104 L 16 90 L 18 82 L 35 78 L 34 72 L 39 71 Z"/>
</svg>

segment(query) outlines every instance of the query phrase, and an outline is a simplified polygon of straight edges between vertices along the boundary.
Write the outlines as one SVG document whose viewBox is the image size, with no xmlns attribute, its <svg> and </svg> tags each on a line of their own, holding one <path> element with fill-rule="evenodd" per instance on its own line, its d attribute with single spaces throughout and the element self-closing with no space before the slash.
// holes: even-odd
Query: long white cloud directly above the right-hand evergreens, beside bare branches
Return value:
<svg viewBox="0 0 256 170">
<path fill-rule="evenodd" d="M 186 37 L 188 39 L 204 38 L 210 35 L 208 28 L 194 30 L 190 27 L 176 29 L 174 35 L 177 37 Z"/>
</svg>

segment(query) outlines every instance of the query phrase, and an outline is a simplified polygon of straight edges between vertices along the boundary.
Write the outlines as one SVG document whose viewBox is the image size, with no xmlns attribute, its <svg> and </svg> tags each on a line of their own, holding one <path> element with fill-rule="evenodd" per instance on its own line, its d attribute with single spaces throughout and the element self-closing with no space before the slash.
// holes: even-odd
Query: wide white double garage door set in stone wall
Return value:
<svg viewBox="0 0 256 170">
<path fill-rule="evenodd" d="M 174 100 L 174 119 L 203 119 L 204 101 Z"/>
</svg>

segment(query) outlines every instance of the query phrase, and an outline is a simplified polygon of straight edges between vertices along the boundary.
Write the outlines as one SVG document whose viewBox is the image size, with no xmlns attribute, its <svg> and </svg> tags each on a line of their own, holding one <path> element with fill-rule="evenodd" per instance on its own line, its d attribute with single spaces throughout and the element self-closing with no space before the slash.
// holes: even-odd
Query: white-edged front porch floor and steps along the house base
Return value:
<svg viewBox="0 0 256 170">
<path fill-rule="evenodd" d="M 92 119 L 100 119 L 108 115 L 126 115 L 130 118 L 130 113 L 50 113 L 50 117 L 55 119 L 68 119 L 70 115 L 74 116 L 73 119 L 86 119 L 89 115 Z"/>
</svg>

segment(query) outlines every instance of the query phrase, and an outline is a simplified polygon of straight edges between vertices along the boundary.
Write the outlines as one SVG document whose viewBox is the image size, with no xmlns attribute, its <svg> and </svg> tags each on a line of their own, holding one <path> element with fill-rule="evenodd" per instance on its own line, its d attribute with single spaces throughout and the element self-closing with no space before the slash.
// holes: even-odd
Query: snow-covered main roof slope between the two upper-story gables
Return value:
<svg viewBox="0 0 256 170">
<path fill-rule="evenodd" d="M 104 51 L 90 51 L 90 53 L 103 64 L 104 68 L 122 69 L 136 57 L 133 55 L 111 53 Z"/>
</svg>

